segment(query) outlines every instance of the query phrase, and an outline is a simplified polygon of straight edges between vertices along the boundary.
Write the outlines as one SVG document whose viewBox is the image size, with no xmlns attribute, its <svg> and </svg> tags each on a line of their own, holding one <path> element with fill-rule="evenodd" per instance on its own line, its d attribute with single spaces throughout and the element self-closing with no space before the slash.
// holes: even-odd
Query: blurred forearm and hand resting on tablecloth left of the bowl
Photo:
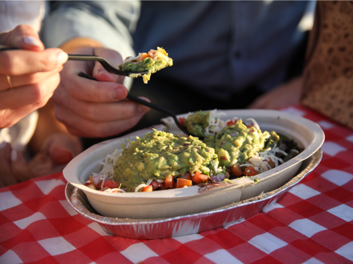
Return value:
<svg viewBox="0 0 353 264">
<path fill-rule="evenodd" d="M 0 146 L 0 187 L 62 171 L 66 164 L 82 151 L 78 137 L 68 133 L 54 118 L 49 101 L 38 109 L 38 122 L 28 148 L 35 153 L 26 161 L 21 151 L 6 142 Z"/>
</svg>

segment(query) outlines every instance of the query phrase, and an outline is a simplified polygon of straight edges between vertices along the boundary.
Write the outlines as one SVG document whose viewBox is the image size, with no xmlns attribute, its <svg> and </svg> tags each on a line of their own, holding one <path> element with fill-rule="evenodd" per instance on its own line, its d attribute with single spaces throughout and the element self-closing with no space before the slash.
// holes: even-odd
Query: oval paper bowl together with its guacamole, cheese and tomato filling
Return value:
<svg viewBox="0 0 353 264">
<path fill-rule="evenodd" d="M 273 110 L 178 116 L 198 137 L 164 125 L 98 143 L 64 177 L 103 216 L 157 219 L 195 214 L 283 186 L 324 141 L 322 129 Z"/>
</svg>

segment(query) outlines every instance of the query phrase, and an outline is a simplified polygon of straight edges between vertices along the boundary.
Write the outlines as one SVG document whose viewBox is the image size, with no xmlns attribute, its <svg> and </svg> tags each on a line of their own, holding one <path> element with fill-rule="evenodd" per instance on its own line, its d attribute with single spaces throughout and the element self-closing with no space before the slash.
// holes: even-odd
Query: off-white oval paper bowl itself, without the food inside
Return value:
<svg viewBox="0 0 353 264">
<path fill-rule="evenodd" d="M 221 206 L 239 202 L 258 196 L 262 192 L 270 192 L 283 186 L 297 172 L 302 161 L 315 153 L 324 142 L 324 132 L 316 123 L 300 116 L 273 110 L 221 110 L 226 113 L 222 119 L 234 116 L 246 120 L 254 118 L 261 131 L 276 131 L 291 139 L 295 139 L 305 150 L 296 157 L 258 176 L 260 181 L 242 178 L 236 184 L 215 184 L 192 186 L 189 188 L 164 190 L 144 193 L 106 193 L 92 190 L 83 185 L 92 172 L 101 168 L 99 162 L 106 154 L 121 149 L 127 138 L 136 140 L 152 129 L 143 129 L 123 138 L 107 140 L 83 151 L 64 169 L 65 179 L 81 189 L 94 209 L 108 217 L 156 219 L 195 214 L 212 210 Z M 187 116 L 188 114 L 181 115 Z M 157 130 L 165 130 L 163 125 L 154 126 Z M 169 131 L 180 134 L 177 127 L 169 126 Z"/>
</svg>

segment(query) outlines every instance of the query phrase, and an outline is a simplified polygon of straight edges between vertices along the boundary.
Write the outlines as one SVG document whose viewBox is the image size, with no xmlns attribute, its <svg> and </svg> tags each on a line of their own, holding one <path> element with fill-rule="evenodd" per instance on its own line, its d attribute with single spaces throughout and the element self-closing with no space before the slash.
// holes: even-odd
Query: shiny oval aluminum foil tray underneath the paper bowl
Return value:
<svg viewBox="0 0 353 264">
<path fill-rule="evenodd" d="M 282 187 L 259 196 L 232 203 L 211 211 L 159 219 L 129 219 L 104 217 L 89 204 L 82 190 L 70 183 L 65 189 L 69 204 L 83 217 L 97 222 L 103 230 L 135 239 L 156 239 L 195 234 L 236 223 L 278 201 L 288 190 L 304 179 L 320 162 L 322 150 L 304 160 L 298 173 Z"/>
</svg>

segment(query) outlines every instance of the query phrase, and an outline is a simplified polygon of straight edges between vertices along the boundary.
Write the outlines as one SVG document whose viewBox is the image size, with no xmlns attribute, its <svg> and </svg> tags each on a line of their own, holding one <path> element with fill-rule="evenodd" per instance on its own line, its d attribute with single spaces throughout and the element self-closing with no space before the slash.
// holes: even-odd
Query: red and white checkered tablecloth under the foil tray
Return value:
<svg viewBox="0 0 353 264">
<path fill-rule="evenodd" d="M 0 189 L 0 263 L 353 263 L 353 130 L 301 106 L 325 132 L 317 168 L 242 222 L 199 234 L 108 235 L 65 199 L 62 173 Z"/>
</svg>

